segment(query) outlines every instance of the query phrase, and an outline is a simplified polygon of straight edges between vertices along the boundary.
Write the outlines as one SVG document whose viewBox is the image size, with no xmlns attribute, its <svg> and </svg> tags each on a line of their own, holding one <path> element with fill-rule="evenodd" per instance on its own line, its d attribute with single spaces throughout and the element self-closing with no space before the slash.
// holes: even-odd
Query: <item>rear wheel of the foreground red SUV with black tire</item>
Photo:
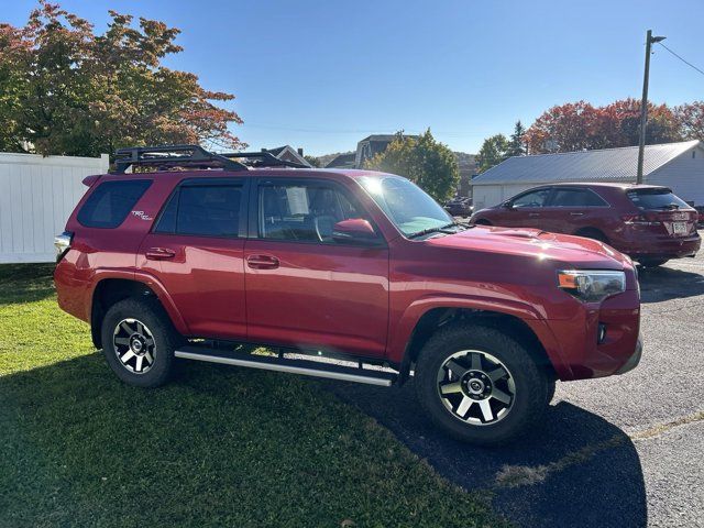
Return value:
<svg viewBox="0 0 704 528">
<path fill-rule="evenodd" d="M 173 370 L 174 351 L 182 338 L 157 301 L 129 298 L 116 302 L 102 320 L 101 332 L 106 360 L 120 380 L 138 387 L 157 387 L 166 383 Z M 135 341 L 143 346 L 136 354 Z M 129 358 L 122 361 L 125 356 Z"/>
</svg>

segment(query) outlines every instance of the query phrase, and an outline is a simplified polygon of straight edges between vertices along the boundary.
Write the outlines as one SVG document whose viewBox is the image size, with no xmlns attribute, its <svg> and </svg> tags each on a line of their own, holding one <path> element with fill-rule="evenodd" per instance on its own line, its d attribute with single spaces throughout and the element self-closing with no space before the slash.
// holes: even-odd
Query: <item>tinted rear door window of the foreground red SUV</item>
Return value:
<svg viewBox="0 0 704 528">
<path fill-rule="evenodd" d="M 172 196 L 155 232 L 238 237 L 241 207 L 239 185 L 184 186 Z"/>
</svg>

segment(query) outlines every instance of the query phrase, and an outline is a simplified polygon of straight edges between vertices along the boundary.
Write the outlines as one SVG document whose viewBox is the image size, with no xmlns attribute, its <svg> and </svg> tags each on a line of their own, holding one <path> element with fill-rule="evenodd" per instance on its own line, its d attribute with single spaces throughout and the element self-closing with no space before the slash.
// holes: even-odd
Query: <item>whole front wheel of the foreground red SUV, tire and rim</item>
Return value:
<svg viewBox="0 0 704 528">
<path fill-rule="evenodd" d="M 494 328 L 455 323 L 438 330 L 416 363 L 416 391 L 430 418 L 479 446 L 506 443 L 539 421 L 549 378 L 528 350 Z"/>
</svg>

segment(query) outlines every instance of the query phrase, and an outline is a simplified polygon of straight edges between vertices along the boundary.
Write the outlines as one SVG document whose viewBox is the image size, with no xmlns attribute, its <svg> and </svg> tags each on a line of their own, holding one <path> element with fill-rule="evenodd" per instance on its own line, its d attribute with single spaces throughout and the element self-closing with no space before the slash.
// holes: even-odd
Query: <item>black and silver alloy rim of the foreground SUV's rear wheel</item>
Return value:
<svg viewBox="0 0 704 528">
<path fill-rule="evenodd" d="M 112 348 L 122 366 L 134 374 L 146 374 L 154 365 L 156 343 L 142 321 L 121 320 L 114 328 Z"/>
</svg>

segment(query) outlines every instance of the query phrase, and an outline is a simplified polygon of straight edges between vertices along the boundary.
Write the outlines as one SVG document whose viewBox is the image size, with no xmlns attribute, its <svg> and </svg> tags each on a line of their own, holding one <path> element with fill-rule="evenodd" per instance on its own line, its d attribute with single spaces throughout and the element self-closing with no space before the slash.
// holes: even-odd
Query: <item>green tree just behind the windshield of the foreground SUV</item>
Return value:
<svg viewBox="0 0 704 528">
<path fill-rule="evenodd" d="M 450 198 L 460 182 L 457 157 L 436 141 L 430 129 L 418 138 L 398 132 L 384 152 L 365 163 L 365 168 L 405 176 L 438 201 Z"/>
</svg>

